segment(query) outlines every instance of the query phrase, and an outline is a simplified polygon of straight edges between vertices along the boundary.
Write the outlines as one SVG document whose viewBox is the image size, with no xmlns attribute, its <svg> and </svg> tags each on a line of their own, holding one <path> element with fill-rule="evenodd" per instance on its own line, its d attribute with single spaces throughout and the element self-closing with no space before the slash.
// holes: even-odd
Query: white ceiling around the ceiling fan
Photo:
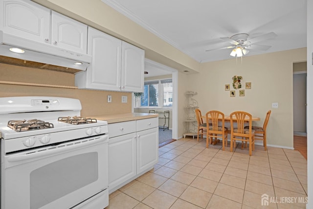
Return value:
<svg viewBox="0 0 313 209">
<path fill-rule="evenodd" d="M 266 51 L 306 47 L 307 0 L 102 0 L 200 63 L 234 59 L 221 37 L 249 34 L 248 40 L 274 32 L 258 42 Z M 244 59 L 244 58 L 243 58 Z"/>
</svg>

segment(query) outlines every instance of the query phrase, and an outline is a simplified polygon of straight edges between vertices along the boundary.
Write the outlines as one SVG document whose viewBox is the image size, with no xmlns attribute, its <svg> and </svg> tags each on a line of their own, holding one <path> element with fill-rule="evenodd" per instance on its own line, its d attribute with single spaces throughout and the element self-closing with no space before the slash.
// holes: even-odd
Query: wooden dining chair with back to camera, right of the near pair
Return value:
<svg viewBox="0 0 313 209">
<path fill-rule="evenodd" d="M 233 146 L 236 140 L 242 143 L 249 142 L 249 155 L 252 155 L 254 150 L 254 130 L 252 129 L 252 116 L 244 111 L 235 111 L 230 114 L 230 152 L 233 151 Z M 248 122 L 249 126 L 245 126 Z M 237 127 L 234 126 L 237 124 Z M 248 128 L 245 128 L 248 127 Z M 234 144 L 235 143 L 235 144 Z"/>
</svg>

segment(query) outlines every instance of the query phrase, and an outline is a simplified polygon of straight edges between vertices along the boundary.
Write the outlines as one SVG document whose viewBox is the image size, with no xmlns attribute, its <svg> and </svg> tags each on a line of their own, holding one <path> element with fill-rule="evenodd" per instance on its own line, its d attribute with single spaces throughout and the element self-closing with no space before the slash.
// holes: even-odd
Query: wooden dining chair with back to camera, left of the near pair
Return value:
<svg viewBox="0 0 313 209">
<path fill-rule="evenodd" d="M 224 113 L 212 110 L 205 114 L 206 117 L 206 148 L 209 147 L 209 142 L 212 144 L 212 139 L 220 138 L 222 139 L 223 150 L 225 150 L 225 144 L 227 146 L 227 131 L 228 128 L 224 127 L 225 115 Z M 209 123 L 211 121 L 211 123 Z M 219 121 L 222 122 L 219 125 Z"/>
</svg>

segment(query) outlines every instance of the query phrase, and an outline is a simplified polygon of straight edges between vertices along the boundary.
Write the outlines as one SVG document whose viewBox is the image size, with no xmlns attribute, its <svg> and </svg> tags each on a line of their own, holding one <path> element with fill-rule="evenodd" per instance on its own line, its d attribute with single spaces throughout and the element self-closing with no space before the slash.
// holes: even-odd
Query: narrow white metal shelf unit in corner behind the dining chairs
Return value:
<svg viewBox="0 0 313 209">
<path fill-rule="evenodd" d="M 197 95 L 196 92 L 188 91 L 185 93 L 186 96 L 186 106 L 185 106 L 185 119 L 184 119 L 184 134 L 183 137 L 192 136 L 195 139 L 197 136 L 197 118 L 195 110 L 199 107 L 198 101 L 192 98 Z"/>
</svg>

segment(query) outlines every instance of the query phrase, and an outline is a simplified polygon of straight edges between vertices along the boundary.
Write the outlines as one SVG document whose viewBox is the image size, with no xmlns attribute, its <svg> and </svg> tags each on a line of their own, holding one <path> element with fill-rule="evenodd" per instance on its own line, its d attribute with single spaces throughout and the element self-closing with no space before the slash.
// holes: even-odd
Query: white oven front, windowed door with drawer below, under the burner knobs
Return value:
<svg viewBox="0 0 313 209">
<path fill-rule="evenodd" d="M 102 201 L 101 209 L 108 205 L 108 135 L 8 154 L 1 161 L 3 209 L 88 208 L 93 199 Z"/>
</svg>

